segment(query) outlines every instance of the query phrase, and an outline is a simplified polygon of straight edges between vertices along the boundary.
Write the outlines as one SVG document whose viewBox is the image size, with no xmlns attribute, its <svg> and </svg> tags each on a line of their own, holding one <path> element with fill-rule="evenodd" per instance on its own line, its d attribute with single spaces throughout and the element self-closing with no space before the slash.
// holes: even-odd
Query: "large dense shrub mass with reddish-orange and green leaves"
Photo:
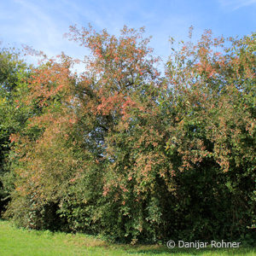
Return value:
<svg viewBox="0 0 256 256">
<path fill-rule="evenodd" d="M 68 36 L 91 55 L 81 75 L 62 54 L 26 79 L 5 216 L 133 243 L 253 241 L 255 34 L 206 31 L 173 49 L 165 76 L 143 29 Z"/>
</svg>

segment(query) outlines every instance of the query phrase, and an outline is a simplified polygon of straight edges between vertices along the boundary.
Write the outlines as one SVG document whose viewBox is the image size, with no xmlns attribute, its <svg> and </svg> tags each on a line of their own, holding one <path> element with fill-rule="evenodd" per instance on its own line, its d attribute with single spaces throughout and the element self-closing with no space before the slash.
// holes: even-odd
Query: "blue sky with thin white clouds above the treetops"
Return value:
<svg viewBox="0 0 256 256">
<path fill-rule="evenodd" d="M 118 34 L 124 25 L 146 27 L 150 46 L 165 58 L 168 38 L 186 39 L 189 26 L 194 38 L 204 29 L 215 35 L 242 36 L 255 32 L 256 0 L 0 0 L 0 41 L 21 44 L 57 55 L 82 57 L 87 50 L 63 38 L 68 26 L 107 28 Z"/>
</svg>

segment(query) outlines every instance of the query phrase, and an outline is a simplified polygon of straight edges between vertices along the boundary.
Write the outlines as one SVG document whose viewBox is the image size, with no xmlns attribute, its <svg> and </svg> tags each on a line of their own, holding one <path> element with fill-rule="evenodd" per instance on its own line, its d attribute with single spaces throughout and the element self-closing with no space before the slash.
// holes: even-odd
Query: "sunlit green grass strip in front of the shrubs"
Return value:
<svg viewBox="0 0 256 256">
<path fill-rule="evenodd" d="M 256 255 L 255 248 L 240 247 L 233 249 L 196 250 L 168 249 L 158 245 L 119 245 L 84 234 L 16 229 L 8 221 L 0 220 L 0 255 Z"/>
</svg>

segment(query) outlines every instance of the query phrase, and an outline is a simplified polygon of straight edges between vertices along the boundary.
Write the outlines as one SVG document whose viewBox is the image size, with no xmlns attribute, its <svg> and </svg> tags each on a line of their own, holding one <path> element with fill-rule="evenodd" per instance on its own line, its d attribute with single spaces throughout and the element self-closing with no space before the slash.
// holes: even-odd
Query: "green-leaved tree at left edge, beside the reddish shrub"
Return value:
<svg viewBox="0 0 256 256">
<path fill-rule="evenodd" d="M 20 98 L 27 90 L 29 67 L 15 49 L 0 49 L 0 214 L 13 190 L 13 173 L 9 172 L 9 136 L 26 126 L 30 113 Z M 5 188 L 3 188 L 5 183 Z"/>
</svg>

